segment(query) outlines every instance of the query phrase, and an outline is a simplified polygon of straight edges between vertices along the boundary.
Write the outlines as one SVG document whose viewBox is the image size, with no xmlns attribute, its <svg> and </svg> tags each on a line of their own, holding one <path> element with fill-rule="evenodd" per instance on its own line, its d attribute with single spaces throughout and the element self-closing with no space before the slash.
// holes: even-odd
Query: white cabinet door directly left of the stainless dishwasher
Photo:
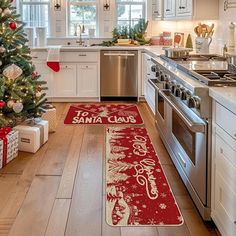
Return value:
<svg viewBox="0 0 236 236">
<path fill-rule="evenodd" d="M 77 65 L 77 96 L 98 97 L 98 65 L 94 63 Z"/>
</svg>

